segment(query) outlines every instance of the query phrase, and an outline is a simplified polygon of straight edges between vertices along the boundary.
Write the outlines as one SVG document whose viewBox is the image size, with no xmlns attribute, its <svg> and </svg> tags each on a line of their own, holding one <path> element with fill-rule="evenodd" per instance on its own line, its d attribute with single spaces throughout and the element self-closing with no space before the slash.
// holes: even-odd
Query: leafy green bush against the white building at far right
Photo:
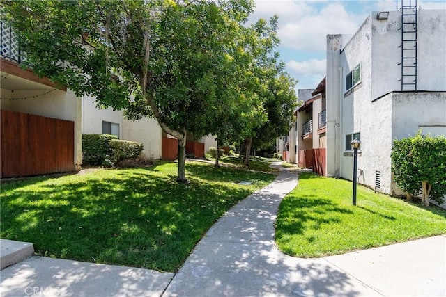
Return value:
<svg viewBox="0 0 446 297">
<path fill-rule="evenodd" d="M 429 198 L 443 202 L 446 194 L 446 138 L 424 136 L 418 131 L 413 137 L 395 139 L 392 172 L 397 186 L 408 193 L 408 199 L 421 192 L 426 206 Z"/>
</svg>

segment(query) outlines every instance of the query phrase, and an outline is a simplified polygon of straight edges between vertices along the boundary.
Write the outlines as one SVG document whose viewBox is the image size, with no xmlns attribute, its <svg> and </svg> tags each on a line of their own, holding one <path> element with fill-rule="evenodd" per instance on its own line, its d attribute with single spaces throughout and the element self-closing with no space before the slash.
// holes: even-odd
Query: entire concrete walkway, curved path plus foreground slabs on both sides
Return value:
<svg viewBox="0 0 446 297">
<path fill-rule="evenodd" d="M 31 257 L 1 271 L 1 296 L 446 296 L 446 236 L 319 259 L 277 250 L 284 170 L 210 228 L 180 271 Z M 173 279 L 172 279 L 173 278 Z"/>
</svg>

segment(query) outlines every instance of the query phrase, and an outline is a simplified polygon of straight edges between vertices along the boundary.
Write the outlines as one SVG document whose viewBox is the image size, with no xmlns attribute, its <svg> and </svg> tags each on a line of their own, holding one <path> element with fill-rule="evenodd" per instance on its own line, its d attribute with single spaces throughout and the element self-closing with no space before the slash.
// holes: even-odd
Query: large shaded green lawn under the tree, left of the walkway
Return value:
<svg viewBox="0 0 446 297">
<path fill-rule="evenodd" d="M 176 271 L 215 220 L 275 175 L 187 163 L 34 177 L 1 186 L 1 238 L 40 255 Z M 239 186 L 242 180 L 251 186 Z"/>
</svg>

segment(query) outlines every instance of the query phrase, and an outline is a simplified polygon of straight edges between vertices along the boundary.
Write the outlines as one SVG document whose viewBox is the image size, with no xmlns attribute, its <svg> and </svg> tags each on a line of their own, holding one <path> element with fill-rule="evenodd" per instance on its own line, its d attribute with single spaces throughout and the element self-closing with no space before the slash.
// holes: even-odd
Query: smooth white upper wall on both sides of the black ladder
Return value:
<svg viewBox="0 0 446 297">
<path fill-rule="evenodd" d="M 376 99 L 401 90 L 401 12 L 371 14 L 372 93 Z M 357 35 L 355 35 L 357 39 Z M 417 90 L 446 90 L 446 10 L 417 11 Z"/>
</svg>

